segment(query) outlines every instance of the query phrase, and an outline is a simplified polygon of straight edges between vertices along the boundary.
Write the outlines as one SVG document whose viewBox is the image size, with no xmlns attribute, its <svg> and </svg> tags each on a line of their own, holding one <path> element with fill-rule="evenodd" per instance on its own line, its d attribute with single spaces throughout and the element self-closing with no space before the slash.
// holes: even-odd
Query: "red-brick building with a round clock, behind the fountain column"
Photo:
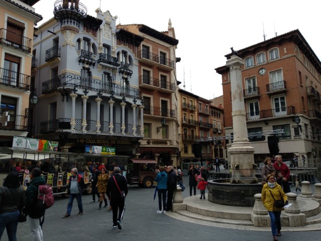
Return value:
<svg viewBox="0 0 321 241">
<path fill-rule="evenodd" d="M 298 30 L 237 51 L 244 59 L 243 97 L 248 133 L 283 129 L 277 134 L 279 153 L 293 154 L 314 166 L 321 155 L 321 62 Z M 227 59 L 231 54 L 225 56 Z M 226 135 L 233 135 L 229 68 L 216 68 L 222 75 Z M 256 160 L 269 156 L 265 136 L 249 138 Z M 318 159 L 319 160 L 319 159 Z"/>
</svg>

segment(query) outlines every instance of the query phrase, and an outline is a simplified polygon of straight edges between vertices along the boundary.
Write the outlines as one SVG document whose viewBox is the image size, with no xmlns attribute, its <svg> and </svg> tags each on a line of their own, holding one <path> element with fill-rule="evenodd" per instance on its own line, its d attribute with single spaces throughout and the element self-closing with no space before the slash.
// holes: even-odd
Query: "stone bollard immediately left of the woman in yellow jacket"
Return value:
<svg viewBox="0 0 321 241">
<path fill-rule="evenodd" d="M 268 227 L 270 226 L 270 216 L 267 215 L 268 211 L 263 205 L 261 193 L 254 195 L 255 202 L 253 213 L 251 213 L 251 221 L 255 227 Z"/>
</svg>

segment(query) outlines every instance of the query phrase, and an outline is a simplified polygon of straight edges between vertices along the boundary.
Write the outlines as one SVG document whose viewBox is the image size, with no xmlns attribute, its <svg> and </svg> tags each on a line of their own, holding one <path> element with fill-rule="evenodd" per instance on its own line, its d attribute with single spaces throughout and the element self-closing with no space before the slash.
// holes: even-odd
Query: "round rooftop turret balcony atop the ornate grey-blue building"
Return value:
<svg viewBox="0 0 321 241">
<path fill-rule="evenodd" d="M 79 22 L 87 15 L 87 8 L 79 1 L 57 0 L 54 5 L 54 16 L 61 25 L 75 25 L 80 27 Z"/>
</svg>

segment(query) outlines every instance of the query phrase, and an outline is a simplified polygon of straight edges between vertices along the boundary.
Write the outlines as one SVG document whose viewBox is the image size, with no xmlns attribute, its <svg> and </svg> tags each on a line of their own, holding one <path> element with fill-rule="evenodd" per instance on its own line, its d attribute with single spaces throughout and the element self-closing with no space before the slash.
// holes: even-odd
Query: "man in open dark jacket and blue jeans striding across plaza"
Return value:
<svg viewBox="0 0 321 241">
<path fill-rule="evenodd" d="M 84 179 L 80 174 L 78 174 L 77 168 L 71 169 L 71 176 L 69 178 L 69 188 L 68 188 L 69 200 L 67 205 L 67 213 L 63 217 L 70 217 L 74 198 L 77 199 L 77 203 L 78 203 L 79 212 L 77 216 L 80 216 L 83 214 L 81 193 L 84 190 L 84 185 L 85 185 Z"/>
</svg>

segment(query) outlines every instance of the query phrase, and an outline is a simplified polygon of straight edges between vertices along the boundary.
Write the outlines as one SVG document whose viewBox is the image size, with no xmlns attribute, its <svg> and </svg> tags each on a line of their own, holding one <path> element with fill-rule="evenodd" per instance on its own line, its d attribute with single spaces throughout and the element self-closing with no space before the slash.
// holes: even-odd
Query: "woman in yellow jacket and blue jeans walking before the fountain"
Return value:
<svg viewBox="0 0 321 241">
<path fill-rule="evenodd" d="M 271 194 L 272 193 L 272 194 Z M 273 197 L 272 197 L 273 195 Z M 283 207 L 279 208 L 275 206 L 275 200 L 284 200 L 287 204 L 287 196 L 282 190 L 282 187 L 276 183 L 275 178 L 272 174 L 266 175 L 266 184 L 262 188 L 261 198 L 263 205 L 269 212 L 271 218 L 271 229 L 273 240 L 277 240 L 277 236 L 281 236 L 281 211 L 284 210 Z"/>
</svg>

